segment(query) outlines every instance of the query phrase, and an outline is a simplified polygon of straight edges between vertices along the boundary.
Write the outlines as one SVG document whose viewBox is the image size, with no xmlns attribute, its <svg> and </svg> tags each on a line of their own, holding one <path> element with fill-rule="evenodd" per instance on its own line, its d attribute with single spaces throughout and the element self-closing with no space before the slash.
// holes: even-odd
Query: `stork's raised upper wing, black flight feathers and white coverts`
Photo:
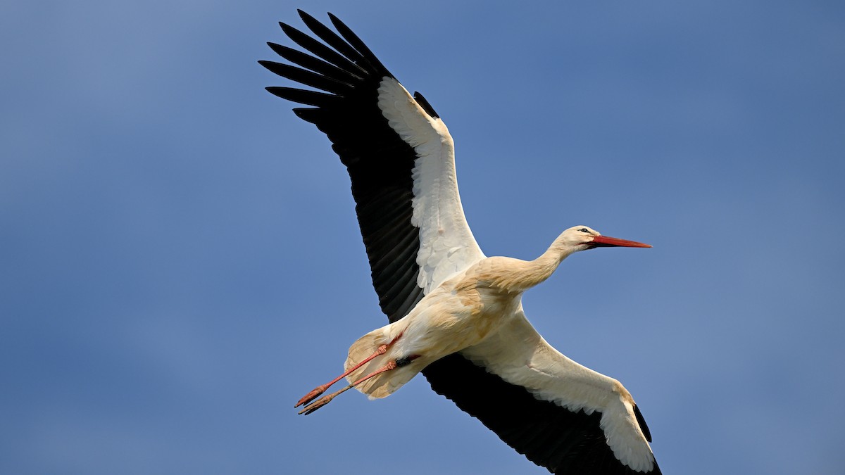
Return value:
<svg viewBox="0 0 845 475">
<path fill-rule="evenodd" d="M 324 43 L 280 24 L 307 52 L 270 47 L 301 68 L 259 63 L 315 90 L 267 90 L 310 106 L 293 112 L 328 135 L 346 165 L 373 287 L 392 322 L 425 292 L 484 257 L 461 207 L 452 137 L 428 101 L 408 94 L 341 20 L 329 14 L 338 35 L 299 15 Z"/>
</svg>

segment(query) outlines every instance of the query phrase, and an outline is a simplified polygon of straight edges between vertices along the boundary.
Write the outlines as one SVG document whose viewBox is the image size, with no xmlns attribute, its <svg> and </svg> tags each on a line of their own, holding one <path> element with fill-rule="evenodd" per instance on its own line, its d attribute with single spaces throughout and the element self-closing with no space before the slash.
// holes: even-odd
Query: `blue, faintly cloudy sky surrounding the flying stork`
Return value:
<svg viewBox="0 0 845 475">
<path fill-rule="evenodd" d="M 0 5 L 0 472 L 546 471 L 412 380 L 292 405 L 386 323 L 346 171 L 264 87 L 331 11 L 455 138 L 488 255 L 666 473 L 845 471 L 845 3 Z M 495 395 L 490 395 L 495 397 Z"/>
</svg>

